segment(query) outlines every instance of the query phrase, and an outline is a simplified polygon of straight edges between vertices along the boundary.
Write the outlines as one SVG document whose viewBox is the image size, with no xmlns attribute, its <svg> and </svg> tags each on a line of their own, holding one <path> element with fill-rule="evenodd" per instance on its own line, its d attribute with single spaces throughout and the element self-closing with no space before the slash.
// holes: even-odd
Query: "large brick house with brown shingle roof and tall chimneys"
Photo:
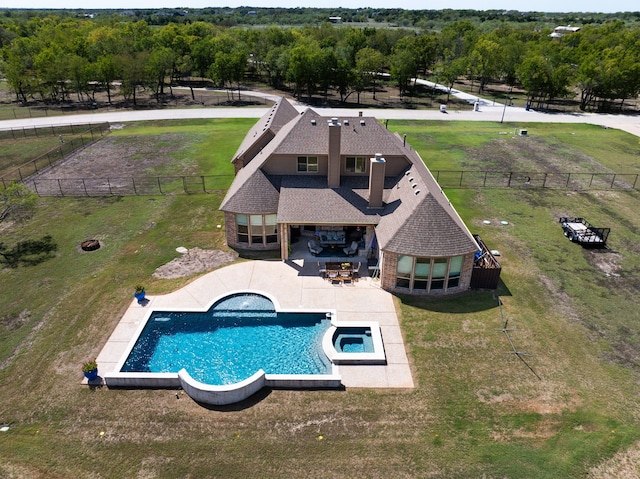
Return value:
<svg viewBox="0 0 640 479">
<path fill-rule="evenodd" d="M 314 239 L 358 245 L 381 286 L 442 295 L 469 288 L 480 249 L 420 155 L 373 117 L 299 113 L 280 99 L 233 158 L 220 209 L 229 246 L 279 250 Z"/>
</svg>

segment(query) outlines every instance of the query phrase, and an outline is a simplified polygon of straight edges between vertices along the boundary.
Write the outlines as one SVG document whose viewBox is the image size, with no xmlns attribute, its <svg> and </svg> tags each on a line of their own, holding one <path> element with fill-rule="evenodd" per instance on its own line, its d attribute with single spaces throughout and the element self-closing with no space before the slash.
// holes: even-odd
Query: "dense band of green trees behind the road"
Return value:
<svg viewBox="0 0 640 479">
<path fill-rule="evenodd" d="M 622 108 L 640 94 L 640 27 L 621 20 L 584 25 L 552 38 L 551 28 L 502 23 L 492 31 L 463 19 L 438 31 L 314 25 L 230 28 L 205 21 L 150 25 L 58 15 L 0 19 L 0 70 L 15 99 L 60 103 L 136 103 L 204 77 L 231 97 L 249 80 L 290 89 L 299 98 L 336 93 L 344 103 L 375 98 L 391 81 L 414 95 L 414 78 L 452 87 L 460 78 L 482 94 L 500 82 L 522 88 L 527 102 L 578 97 L 583 110 Z"/>
</svg>

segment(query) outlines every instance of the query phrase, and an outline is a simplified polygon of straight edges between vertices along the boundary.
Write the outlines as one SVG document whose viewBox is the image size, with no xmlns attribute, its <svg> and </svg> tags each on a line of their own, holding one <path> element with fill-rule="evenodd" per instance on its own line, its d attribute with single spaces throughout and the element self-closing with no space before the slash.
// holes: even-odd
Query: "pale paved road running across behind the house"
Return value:
<svg viewBox="0 0 640 479">
<path fill-rule="evenodd" d="M 274 99 L 273 95 L 262 95 L 255 92 L 243 92 L 243 95 L 262 96 Z M 440 113 L 438 110 L 364 110 L 367 116 L 374 116 L 385 120 L 447 120 L 447 121 L 490 121 L 499 123 L 512 122 L 549 122 L 549 123 L 589 123 L 607 128 L 617 128 L 633 135 L 640 136 L 640 116 L 638 115 L 610 115 L 595 113 L 546 113 L 534 110 L 526 111 L 521 107 L 504 106 L 490 100 L 478 99 L 457 90 L 453 95 L 464 96 L 467 101 L 479 100 L 479 111 L 450 111 Z M 467 98 L 469 97 L 469 98 Z M 306 106 L 296 104 L 296 108 L 303 110 Z M 354 116 L 357 110 L 348 108 L 319 108 L 318 112 L 327 116 Z M 145 120 L 182 120 L 193 118 L 260 118 L 267 107 L 256 108 L 189 108 L 189 109 L 164 109 L 148 111 L 124 111 L 112 113 L 86 113 L 80 115 L 64 115 L 59 117 L 24 118 L 20 120 L 0 121 L 0 130 L 9 128 L 23 128 L 33 126 L 88 124 L 88 123 L 117 123 Z"/>
</svg>

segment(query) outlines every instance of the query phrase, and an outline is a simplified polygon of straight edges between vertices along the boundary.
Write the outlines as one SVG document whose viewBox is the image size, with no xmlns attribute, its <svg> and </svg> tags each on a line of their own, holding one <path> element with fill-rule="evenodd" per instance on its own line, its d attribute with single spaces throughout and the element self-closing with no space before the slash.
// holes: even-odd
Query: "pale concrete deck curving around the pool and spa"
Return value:
<svg viewBox="0 0 640 479">
<path fill-rule="evenodd" d="M 312 264 L 310 264 L 312 263 Z M 352 284 L 331 284 L 317 274 L 315 262 L 246 261 L 225 266 L 165 295 L 134 299 L 97 357 L 100 374 L 115 372 L 131 338 L 150 309 L 205 308 L 225 294 L 253 290 L 275 298 L 283 309 L 335 310 L 340 321 L 377 321 L 386 365 L 340 365 L 342 384 L 359 388 L 413 388 L 393 296 L 369 277 Z"/>
</svg>

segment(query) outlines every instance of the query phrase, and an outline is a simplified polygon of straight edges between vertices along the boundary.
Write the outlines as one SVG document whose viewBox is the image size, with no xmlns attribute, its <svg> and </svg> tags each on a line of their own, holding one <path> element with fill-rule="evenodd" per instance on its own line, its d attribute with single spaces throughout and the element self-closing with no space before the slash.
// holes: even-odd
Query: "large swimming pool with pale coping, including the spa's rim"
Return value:
<svg viewBox="0 0 640 479">
<path fill-rule="evenodd" d="M 337 351 L 341 328 L 367 328 L 373 351 Z M 204 310 L 151 310 L 109 387 L 182 388 L 212 405 L 242 401 L 263 387 L 342 387 L 338 364 L 386 362 L 373 321 L 339 322 L 334 310 L 283 310 L 257 291 L 229 293 Z"/>
</svg>

